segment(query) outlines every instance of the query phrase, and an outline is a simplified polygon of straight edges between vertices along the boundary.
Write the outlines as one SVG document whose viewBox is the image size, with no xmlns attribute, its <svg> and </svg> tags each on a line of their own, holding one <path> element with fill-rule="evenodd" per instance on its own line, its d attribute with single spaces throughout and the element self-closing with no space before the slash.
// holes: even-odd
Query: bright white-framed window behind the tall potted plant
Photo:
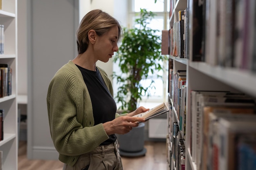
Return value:
<svg viewBox="0 0 256 170">
<path fill-rule="evenodd" d="M 133 26 L 136 26 L 134 21 L 135 17 L 139 16 L 136 15 L 137 13 L 140 12 L 140 9 L 147 9 L 147 11 L 152 11 L 156 13 L 156 16 L 153 20 L 151 20 L 150 26 L 152 29 L 159 30 L 157 32 L 158 35 L 162 35 L 162 30 L 168 30 L 169 29 L 169 0 L 157 0 L 155 3 L 155 0 L 128 0 L 129 5 L 128 5 L 128 28 L 131 28 Z M 141 83 L 143 84 L 150 84 L 151 80 L 154 81 L 154 89 L 150 90 L 150 97 L 143 97 L 142 101 L 140 101 L 139 105 L 145 106 L 145 107 L 152 107 L 152 103 L 161 103 L 161 102 L 167 102 L 167 66 L 168 62 L 166 61 L 163 63 L 163 66 L 166 68 L 164 71 L 159 73 L 159 75 L 162 75 L 162 78 L 159 78 L 156 76 L 156 74 L 152 74 L 148 77 L 148 79 L 144 79 Z M 117 71 L 118 68 L 116 68 L 114 64 L 114 71 Z M 113 84 L 114 86 L 114 93 L 115 89 L 115 83 Z M 149 105 L 151 104 L 151 106 Z M 146 106 L 146 105 L 149 106 Z M 118 104 L 117 104 L 118 105 Z M 117 106 L 118 107 L 118 106 Z"/>
</svg>

